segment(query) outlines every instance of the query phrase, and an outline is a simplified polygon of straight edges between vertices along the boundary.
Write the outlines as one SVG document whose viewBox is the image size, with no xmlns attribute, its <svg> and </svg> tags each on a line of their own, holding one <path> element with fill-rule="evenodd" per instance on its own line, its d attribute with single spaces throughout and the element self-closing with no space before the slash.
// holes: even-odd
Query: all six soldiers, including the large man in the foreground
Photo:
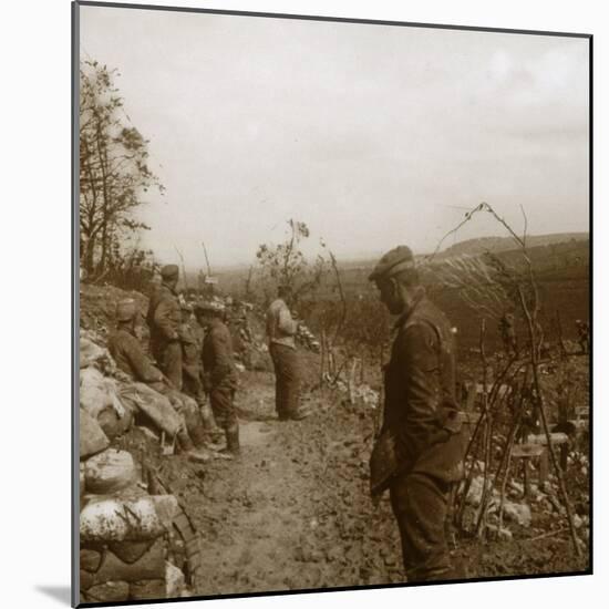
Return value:
<svg viewBox="0 0 609 609">
<path fill-rule="evenodd" d="M 207 301 L 192 309 L 180 303 L 175 265 L 164 267 L 162 278 L 146 316 L 157 365 L 136 338 L 133 300 L 117 306 L 110 350 L 122 370 L 167 395 L 184 415 L 178 441 L 185 451 L 196 452 L 218 440 L 221 430 L 225 451 L 235 456 L 239 454 L 237 379 L 221 306 Z M 371 493 L 378 498 L 389 489 L 407 580 L 452 579 L 456 575 L 444 527 L 451 491 L 463 475 L 464 444 L 455 399 L 454 334 L 446 317 L 427 299 L 406 246 L 385 254 L 369 279 L 398 318 L 384 371 L 384 422 L 370 461 Z M 206 330 L 202 349 L 188 326 L 192 313 Z M 277 416 L 304 419 L 310 411 L 300 405 L 298 321 L 290 312 L 288 286 L 279 287 L 266 322 Z"/>
</svg>

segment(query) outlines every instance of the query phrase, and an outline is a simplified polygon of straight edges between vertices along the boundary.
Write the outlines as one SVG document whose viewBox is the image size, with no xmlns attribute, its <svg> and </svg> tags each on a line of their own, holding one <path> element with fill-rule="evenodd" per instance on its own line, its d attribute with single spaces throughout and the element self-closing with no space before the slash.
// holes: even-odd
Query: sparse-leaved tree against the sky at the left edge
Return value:
<svg viewBox="0 0 609 609">
<path fill-rule="evenodd" d="M 96 61 L 81 64 L 81 258 L 90 276 L 116 266 L 124 240 L 148 229 L 134 210 L 144 203 L 144 193 L 164 190 L 148 165 L 148 142 L 124 112 L 116 75 Z"/>
</svg>

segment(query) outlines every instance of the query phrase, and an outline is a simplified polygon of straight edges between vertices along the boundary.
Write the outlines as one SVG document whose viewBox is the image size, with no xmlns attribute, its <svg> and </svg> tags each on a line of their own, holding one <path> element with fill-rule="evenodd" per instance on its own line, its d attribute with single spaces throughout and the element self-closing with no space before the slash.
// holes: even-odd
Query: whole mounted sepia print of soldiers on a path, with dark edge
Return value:
<svg viewBox="0 0 609 609">
<path fill-rule="evenodd" d="M 72 9 L 76 602 L 591 574 L 591 35 Z"/>
</svg>

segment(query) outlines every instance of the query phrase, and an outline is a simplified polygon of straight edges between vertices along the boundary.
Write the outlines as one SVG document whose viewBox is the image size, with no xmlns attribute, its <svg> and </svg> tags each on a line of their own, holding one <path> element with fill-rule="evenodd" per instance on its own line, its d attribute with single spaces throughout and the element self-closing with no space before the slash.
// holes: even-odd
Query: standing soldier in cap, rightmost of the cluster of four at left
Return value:
<svg viewBox="0 0 609 609">
<path fill-rule="evenodd" d="M 202 351 L 204 389 L 209 394 L 214 416 L 225 432 L 226 452 L 238 456 L 239 421 L 234 404 L 237 370 L 230 332 L 223 321 L 224 312 L 224 306 L 219 302 L 195 306 L 197 321 L 206 330 Z"/>
</svg>

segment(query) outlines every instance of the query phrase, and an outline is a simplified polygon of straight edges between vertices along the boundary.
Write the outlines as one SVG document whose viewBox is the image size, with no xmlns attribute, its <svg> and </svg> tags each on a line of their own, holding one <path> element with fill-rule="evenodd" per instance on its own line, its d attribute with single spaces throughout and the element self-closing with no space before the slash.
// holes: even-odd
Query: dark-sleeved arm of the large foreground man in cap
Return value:
<svg viewBox="0 0 609 609">
<path fill-rule="evenodd" d="M 395 350 L 402 371 L 404 412 L 399 437 L 409 457 L 416 458 L 437 429 L 441 398 L 438 338 L 427 323 L 415 323 L 399 337 Z"/>
</svg>

